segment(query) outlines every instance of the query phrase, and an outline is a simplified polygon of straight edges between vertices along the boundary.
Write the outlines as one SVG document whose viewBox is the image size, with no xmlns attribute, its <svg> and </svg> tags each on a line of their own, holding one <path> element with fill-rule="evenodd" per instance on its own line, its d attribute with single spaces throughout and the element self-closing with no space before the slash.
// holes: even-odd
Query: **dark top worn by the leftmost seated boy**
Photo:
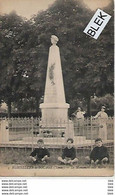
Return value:
<svg viewBox="0 0 115 195">
<path fill-rule="evenodd" d="M 30 154 L 30 156 L 37 156 L 37 160 L 41 160 L 44 156 L 50 156 L 49 151 L 46 148 L 35 148 L 34 151 Z"/>
</svg>

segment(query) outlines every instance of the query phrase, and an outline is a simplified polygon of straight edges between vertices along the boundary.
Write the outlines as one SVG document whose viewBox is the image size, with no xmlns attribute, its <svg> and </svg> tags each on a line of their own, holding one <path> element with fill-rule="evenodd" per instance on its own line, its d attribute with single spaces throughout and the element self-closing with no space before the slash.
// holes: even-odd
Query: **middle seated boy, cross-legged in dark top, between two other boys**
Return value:
<svg viewBox="0 0 115 195">
<path fill-rule="evenodd" d="M 77 163 L 76 149 L 73 147 L 73 139 L 67 139 L 67 146 L 63 150 L 62 157 L 58 157 L 58 160 L 63 164 Z"/>
</svg>

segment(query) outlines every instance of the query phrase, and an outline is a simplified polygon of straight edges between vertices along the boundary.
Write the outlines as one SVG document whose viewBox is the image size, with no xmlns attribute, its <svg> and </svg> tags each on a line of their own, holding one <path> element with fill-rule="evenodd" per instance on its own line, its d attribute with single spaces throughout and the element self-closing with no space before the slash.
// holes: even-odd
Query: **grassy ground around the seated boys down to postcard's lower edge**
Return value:
<svg viewBox="0 0 115 195">
<path fill-rule="evenodd" d="M 57 158 L 61 156 L 61 149 L 49 149 L 50 160 L 48 164 L 33 164 L 29 155 L 31 149 L 27 148 L 0 148 L 0 176 L 1 177 L 40 177 L 40 176 L 113 176 L 113 149 L 110 150 L 110 164 L 106 168 L 91 167 L 85 163 L 85 156 L 90 154 L 90 149 L 77 149 L 78 164 L 73 166 L 61 165 Z M 111 153 L 112 151 L 112 153 Z"/>
</svg>

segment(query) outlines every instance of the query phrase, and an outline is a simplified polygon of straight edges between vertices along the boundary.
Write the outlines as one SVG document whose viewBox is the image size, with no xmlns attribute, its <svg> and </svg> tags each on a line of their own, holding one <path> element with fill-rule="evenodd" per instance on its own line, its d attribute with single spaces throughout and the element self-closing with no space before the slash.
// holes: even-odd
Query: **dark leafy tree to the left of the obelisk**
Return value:
<svg viewBox="0 0 115 195">
<path fill-rule="evenodd" d="M 39 102 L 40 66 L 36 48 L 30 46 L 33 32 L 31 21 L 14 12 L 0 19 L 0 99 L 7 103 L 10 117 L 11 103 L 31 97 Z"/>
</svg>

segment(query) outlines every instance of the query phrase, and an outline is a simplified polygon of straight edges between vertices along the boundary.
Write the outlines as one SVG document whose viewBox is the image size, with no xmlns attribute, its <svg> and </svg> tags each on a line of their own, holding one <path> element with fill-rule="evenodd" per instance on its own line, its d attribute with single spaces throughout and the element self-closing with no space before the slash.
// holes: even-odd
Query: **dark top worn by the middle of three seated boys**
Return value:
<svg viewBox="0 0 115 195">
<path fill-rule="evenodd" d="M 68 149 L 67 147 L 64 148 L 63 150 L 63 154 L 62 154 L 62 158 L 70 158 L 71 160 L 73 160 L 74 158 L 76 158 L 76 150 L 74 147 Z"/>
</svg>

